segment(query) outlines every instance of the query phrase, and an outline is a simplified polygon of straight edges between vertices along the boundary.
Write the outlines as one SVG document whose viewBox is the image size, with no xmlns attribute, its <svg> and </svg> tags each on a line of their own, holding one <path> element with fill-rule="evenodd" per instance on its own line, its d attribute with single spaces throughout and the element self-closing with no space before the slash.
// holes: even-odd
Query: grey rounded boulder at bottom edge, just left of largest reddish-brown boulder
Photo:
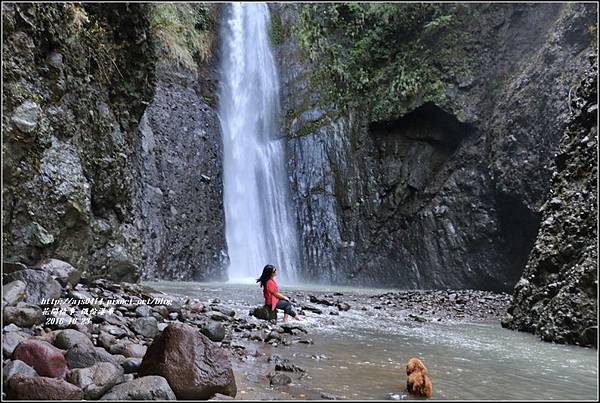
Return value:
<svg viewBox="0 0 600 403">
<path fill-rule="evenodd" d="M 145 376 L 113 386 L 100 400 L 177 400 L 162 376 Z"/>
</svg>

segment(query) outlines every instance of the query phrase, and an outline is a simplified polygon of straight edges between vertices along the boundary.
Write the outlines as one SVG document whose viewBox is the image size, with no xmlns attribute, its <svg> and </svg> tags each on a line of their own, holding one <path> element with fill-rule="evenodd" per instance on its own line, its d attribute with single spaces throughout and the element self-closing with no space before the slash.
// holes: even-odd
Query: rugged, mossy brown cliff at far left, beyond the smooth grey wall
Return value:
<svg viewBox="0 0 600 403">
<path fill-rule="evenodd" d="M 144 10 L 3 5 L 6 256 L 110 275 L 120 248 L 139 277 L 129 157 L 153 88 Z"/>
</svg>

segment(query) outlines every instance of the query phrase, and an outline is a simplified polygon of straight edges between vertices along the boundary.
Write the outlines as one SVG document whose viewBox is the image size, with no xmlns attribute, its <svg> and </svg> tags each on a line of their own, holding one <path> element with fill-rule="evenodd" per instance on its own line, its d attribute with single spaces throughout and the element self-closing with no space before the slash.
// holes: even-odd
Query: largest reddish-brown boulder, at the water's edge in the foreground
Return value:
<svg viewBox="0 0 600 403">
<path fill-rule="evenodd" d="M 215 393 L 237 393 L 225 350 L 183 323 L 170 324 L 154 339 L 139 374 L 164 376 L 178 399 L 204 400 Z"/>
</svg>

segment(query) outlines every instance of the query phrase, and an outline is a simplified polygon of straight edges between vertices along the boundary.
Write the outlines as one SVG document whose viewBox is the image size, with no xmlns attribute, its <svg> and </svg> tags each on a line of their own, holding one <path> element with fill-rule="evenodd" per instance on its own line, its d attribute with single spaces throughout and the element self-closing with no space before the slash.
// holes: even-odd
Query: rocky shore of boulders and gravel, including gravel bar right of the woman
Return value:
<svg viewBox="0 0 600 403">
<path fill-rule="evenodd" d="M 303 322 L 260 320 L 215 298 L 82 278 L 56 259 L 35 268 L 5 265 L 4 272 L 3 398 L 336 398 L 312 390 L 306 371 L 289 359 L 264 352 L 312 345 L 313 329 Z M 323 324 L 363 313 L 415 326 L 498 320 L 510 303 L 507 294 L 473 290 L 287 294 L 304 318 Z M 234 373 L 254 376 L 248 383 Z"/>
</svg>

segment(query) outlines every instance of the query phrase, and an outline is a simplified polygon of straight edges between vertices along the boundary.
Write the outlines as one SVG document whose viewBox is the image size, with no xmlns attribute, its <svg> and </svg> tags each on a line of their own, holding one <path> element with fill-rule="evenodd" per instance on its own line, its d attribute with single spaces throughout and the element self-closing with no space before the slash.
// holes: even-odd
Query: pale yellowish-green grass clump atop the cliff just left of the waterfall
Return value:
<svg viewBox="0 0 600 403">
<path fill-rule="evenodd" d="M 215 16 L 207 4 L 151 4 L 150 29 L 157 38 L 159 55 L 182 66 L 194 68 L 212 54 Z"/>
</svg>

